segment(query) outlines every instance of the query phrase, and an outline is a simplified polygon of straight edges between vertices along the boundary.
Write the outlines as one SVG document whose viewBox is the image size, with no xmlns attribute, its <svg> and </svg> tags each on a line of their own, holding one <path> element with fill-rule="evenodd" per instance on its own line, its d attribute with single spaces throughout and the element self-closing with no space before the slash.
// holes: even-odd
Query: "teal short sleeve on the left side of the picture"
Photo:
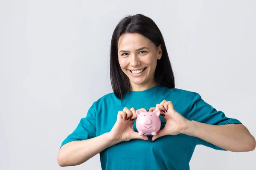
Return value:
<svg viewBox="0 0 256 170">
<path fill-rule="evenodd" d="M 96 109 L 95 103 L 89 108 L 87 116 L 82 118 L 76 129 L 61 143 L 80 141 L 96 137 Z"/>
</svg>

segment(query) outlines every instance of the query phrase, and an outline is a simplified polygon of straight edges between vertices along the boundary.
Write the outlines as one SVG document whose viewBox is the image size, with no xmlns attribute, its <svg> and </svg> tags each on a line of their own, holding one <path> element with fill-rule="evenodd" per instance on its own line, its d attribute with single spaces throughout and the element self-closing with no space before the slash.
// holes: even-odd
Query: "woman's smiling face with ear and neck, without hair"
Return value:
<svg viewBox="0 0 256 170">
<path fill-rule="evenodd" d="M 138 33 L 122 34 L 118 41 L 118 60 L 128 76 L 133 90 L 155 85 L 154 72 L 157 59 L 162 57 L 161 45 Z"/>
</svg>

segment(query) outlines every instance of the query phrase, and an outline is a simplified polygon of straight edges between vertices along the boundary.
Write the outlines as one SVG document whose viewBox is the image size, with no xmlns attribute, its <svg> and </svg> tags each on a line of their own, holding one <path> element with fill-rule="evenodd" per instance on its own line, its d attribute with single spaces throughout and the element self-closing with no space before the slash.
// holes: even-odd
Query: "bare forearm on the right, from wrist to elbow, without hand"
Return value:
<svg viewBox="0 0 256 170">
<path fill-rule="evenodd" d="M 254 137 L 242 124 L 208 125 L 189 121 L 182 133 L 233 152 L 252 151 L 256 147 Z"/>
</svg>

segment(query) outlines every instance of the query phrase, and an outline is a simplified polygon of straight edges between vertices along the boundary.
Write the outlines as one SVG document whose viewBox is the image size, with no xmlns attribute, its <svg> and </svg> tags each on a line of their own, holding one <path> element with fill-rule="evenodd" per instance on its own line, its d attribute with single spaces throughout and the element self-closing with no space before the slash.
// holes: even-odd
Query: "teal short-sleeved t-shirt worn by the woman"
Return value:
<svg viewBox="0 0 256 170">
<path fill-rule="evenodd" d="M 175 110 L 189 120 L 210 125 L 241 123 L 237 119 L 226 117 L 222 111 L 217 111 L 204 102 L 198 93 L 158 85 L 145 91 L 131 91 L 124 95 L 122 103 L 113 93 L 101 97 L 93 103 L 87 116 L 81 119 L 61 146 L 74 140 L 90 139 L 110 132 L 118 111 L 122 111 L 124 107 L 148 110 L 164 99 L 172 101 Z M 163 129 L 165 120 L 162 116 L 160 119 Z M 136 120 L 134 130 L 138 132 L 135 123 Z M 184 134 L 163 136 L 154 142 L 132 139 L 113 145 L 100 153 L 102 170 L 189 170 L 189 161 L 197 144 L 224 150 Z"/>
</svg>

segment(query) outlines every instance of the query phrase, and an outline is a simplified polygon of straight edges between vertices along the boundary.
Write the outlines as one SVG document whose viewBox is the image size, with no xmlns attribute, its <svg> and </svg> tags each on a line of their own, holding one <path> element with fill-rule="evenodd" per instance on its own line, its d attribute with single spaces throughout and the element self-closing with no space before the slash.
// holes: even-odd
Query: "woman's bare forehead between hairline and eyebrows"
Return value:
<svg viewBox="0 0 256 170">
<path fill-rule="evenodd" d="M 142 46 L 151 48 L 154 47 L 154 44 L 138 33 L 125 33 L 119 37 L 117 48 L 122 50 L 137 49 Z"/>
</svg>

